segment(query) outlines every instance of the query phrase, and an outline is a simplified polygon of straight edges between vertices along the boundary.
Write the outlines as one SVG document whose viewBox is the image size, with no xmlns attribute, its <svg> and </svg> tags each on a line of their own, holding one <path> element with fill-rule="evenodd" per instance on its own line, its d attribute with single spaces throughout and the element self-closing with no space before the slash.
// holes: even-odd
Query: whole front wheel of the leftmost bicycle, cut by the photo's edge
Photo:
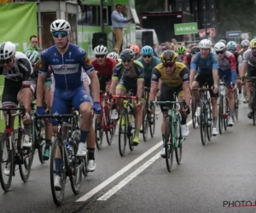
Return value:
<svg viewBox="0 0 256 213">
<path fill-rule="evenodd" d="M 3 191 L 7 192 L 12 183 L 13 170 L 14 170 L 14 154 L 13 149 L 9 149 L 9 135 L 7 132 L 3 132 L 0 140 L 0 159 L 1 159 L 1 170 L 0 170 L 0 181 Z M 4 174 L 5 167 L 9 166 L 9 176 Z"/>
</svg>

